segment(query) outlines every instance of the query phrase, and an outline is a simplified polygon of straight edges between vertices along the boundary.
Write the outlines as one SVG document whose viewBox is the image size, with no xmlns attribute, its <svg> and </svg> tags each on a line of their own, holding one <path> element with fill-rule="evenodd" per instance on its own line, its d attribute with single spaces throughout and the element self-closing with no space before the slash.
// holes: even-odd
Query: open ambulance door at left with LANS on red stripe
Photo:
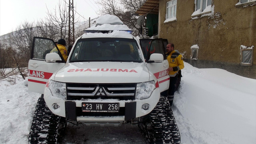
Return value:
<svg viewBox="0 0 256 144">
<path fill-rule="evenodd" d="M 54 72 L 64 66 L 65 61 L 60 54 L 60 61 L 46 62 L 45 56 L 57 47 L 49 38 L 34 37 L 31 56 L 28 62 L 28 90 L 44 94 L 44 86 Z M 58 49 L 58 48 L 57 48 Z"/>
</svg>

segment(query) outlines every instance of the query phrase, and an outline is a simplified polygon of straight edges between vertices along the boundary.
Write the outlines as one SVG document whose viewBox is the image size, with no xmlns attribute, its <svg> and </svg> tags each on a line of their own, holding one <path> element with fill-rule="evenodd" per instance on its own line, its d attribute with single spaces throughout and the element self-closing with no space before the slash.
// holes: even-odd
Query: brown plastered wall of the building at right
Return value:
<svg viewBox="0 0 256 144">
<path fill-rule="evenodd" d="M 177 0 L 177 20 L 164 23 L 168 1 L 159 0 L 158 38 L 174 43 L 193 66 L 222 68 L 256 79 L 256 4 L 236 7 L 239 0 L 212 0 L 214 13 L 194 19 L 194 0 Z M 190 47 L 195 44 L 198 60 L 190 60 Z M 240 65 L 241 45 L 254 46 L 253 66 Z"/>
</svg>

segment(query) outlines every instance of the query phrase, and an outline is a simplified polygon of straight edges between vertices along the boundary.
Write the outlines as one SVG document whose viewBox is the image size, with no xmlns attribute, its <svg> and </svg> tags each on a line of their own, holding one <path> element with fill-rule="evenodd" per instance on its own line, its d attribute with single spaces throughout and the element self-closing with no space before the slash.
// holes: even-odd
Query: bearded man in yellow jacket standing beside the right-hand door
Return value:
<svg viewBox="0 0 256 144">
<path fill-rule="evenodd" d="M 168 89 L 168 100 L 170 105 L 172 106 L 174 92 L 175 92 L 175 84 L 178 80 L 178 72 L 179 70 L 184 68 L 183 58 L 182 55 L 174 50 L 174 44 L 169 43 L 166 46 L 166 51 L 170 53 L 167 56 L 167 60 L 169 63 L 169 76 L 170 76 L 170 85 Z"/>
</svg>

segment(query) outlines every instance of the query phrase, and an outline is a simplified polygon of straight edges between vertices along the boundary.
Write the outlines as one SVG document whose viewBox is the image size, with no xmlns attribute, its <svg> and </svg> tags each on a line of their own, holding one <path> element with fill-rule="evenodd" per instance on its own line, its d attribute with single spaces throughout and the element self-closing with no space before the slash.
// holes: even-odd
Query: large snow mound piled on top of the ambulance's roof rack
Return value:
<svg viewBox="0 0 256 144">
<path fill-rule="evenodd" d="M 91 28 L 87 28 L 84 32 L 102 32 L 107 33 L 113 30 L 122 30 L 132 32 L 133 30 L 128 28 L 128 26 L 124 25 L 124 23 L 117 17 L 106 14 L 104 16 L 99 17 L 96 20 L 96 25 Z"/>
</svg>

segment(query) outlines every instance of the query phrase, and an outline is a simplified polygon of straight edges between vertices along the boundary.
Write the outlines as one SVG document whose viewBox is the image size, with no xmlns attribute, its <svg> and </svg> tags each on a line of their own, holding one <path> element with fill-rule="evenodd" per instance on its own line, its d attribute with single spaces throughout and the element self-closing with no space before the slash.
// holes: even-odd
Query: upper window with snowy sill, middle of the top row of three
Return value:
<svg viewBox="0 0 256 144">
<path fill-rule="evenodd" d="M 212 0 L 195 0 L 195 12 L 192 16 L 198 16 L 212 12 Z"/>
</svg>

